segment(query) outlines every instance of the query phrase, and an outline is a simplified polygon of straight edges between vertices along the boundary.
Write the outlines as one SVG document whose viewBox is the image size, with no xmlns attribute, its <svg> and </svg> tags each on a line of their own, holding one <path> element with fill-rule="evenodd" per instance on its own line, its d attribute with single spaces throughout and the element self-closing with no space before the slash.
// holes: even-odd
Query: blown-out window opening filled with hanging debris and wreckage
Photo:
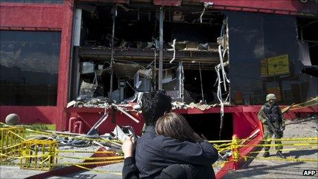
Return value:
<svg viewBox="0 0 318 179">
<path fill-rule="evenodd" d="M 72 77 L 73 99 L 99 97 L 125 103 L 159 88 L 158 7 L 106 3 L 76 7 L 81 23 L 80 29 L 75 28 L 80 38 L 74 50 L 78 73 Z M 229 96 L 228 82 L 223 80 L 228 73 L 227 21 L 222 12 L 203 9 L 164 9 L 162 88 L 174 101 L 186 104 L 215 104 Z M 91 89 L 90 94 L 82 93 L 84 89 Z"/>
</svg>

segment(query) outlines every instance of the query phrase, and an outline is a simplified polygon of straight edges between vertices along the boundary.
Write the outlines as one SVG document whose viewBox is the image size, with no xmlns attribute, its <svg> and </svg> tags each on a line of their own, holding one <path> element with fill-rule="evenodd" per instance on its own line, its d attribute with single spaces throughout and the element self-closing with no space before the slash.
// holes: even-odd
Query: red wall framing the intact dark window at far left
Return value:
<svg viewBox="0 0 318 179">
<path fill-rule="evenodd" d="M 60 31 L 60 63 L 58 73 L 57 106 L 0 106 L 0 121 L 10 113 L 16 113 L 21 123 L 56 123 L 58 130 L 66 128 L 69 89 L 69 60 L 73 0 L 63 4 L 0 3 L 0 29 Z"/>
</svg>

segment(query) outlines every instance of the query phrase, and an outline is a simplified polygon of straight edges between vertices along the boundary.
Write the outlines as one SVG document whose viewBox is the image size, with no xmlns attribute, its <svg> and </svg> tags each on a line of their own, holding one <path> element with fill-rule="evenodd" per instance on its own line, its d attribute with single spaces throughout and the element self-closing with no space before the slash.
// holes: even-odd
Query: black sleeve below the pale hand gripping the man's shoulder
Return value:
<svg viewBox="0 0 318 179">
<path fill-rule="evenodd" d="M 123 161 L 123 179 L 138 179 L 139 172 L 134 157 L 130 156 Z"/>
</svg>

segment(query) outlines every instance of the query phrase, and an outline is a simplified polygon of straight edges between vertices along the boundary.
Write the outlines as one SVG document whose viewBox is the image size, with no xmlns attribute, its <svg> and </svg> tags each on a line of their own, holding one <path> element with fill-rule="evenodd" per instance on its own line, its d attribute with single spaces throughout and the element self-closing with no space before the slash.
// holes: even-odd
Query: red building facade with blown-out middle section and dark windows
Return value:
<svg viewBox="0 0 318 179">
<path fill-rule="evenodd" d="M 164 90 L 196 131 L 230 139 L 258 130 L 267 93 L 283 106 L 317 96 L 316 1 L 1 0 L 0 7 L 1 121 L 14 112 L 25 123 L 87 132 L 108 111 L 99 132 L 118 124 L 140 134 L 140 98 Z"/>
</svg>

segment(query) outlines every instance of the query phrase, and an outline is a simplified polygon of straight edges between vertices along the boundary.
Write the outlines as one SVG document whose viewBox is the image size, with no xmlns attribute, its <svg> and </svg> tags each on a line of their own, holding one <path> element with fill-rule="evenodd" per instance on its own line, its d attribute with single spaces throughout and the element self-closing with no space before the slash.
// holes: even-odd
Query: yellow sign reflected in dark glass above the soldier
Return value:
<svg viewBox="0 0 318 179">
<path fill-rule="evenodd" d="M 268 75 L 284 75 L 289 74 L 289 56 L 276 56 L 267 58 Z"/>
</svg>

